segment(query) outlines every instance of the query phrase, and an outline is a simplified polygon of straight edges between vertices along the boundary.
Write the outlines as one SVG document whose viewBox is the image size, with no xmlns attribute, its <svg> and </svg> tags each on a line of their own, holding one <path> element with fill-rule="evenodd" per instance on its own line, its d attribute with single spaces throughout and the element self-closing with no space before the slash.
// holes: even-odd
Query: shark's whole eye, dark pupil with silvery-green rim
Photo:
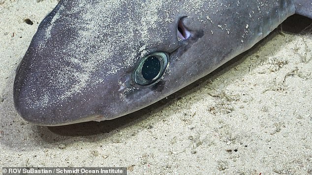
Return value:
<svg viewBox="0 0 312 175">
<path fill-rule="evenodd" d="M 134 72 L 137 84 L 146 86 L 156 82 L 165 72 L 168 64 L 168 54 L 156 51 L 141 59 Z"/>
</svg>

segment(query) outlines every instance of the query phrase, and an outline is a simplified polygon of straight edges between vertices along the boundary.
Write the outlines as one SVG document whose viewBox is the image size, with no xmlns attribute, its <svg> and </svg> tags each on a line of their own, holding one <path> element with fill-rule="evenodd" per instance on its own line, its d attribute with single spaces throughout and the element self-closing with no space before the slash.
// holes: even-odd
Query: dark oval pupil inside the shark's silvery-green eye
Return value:
<svg viewBox="0 0 312 175">
<path fill-rule="evenodd" d="M 160 61 L 156 56 L 148 57 L 142 67 L 142 75 L 147 80 L 154 79 L 160 72 Z"/>
</svg>

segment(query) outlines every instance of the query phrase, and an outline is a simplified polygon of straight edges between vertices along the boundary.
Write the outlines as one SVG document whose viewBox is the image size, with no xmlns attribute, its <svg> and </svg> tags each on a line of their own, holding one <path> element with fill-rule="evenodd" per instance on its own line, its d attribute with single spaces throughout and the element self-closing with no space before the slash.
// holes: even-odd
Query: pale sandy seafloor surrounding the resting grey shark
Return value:
<svg viewBox="0 0 312 175">
<path fill-rule="evenodd" d="M 312 174 L 312 27 L 305 29 L 311 20 L 288 20 L 248 52 L 139 112 L 36 126 L 15 111 L 13 80 L 38 23 L 57 2 L 0 0 L 0 167 Z"/>
</svg>

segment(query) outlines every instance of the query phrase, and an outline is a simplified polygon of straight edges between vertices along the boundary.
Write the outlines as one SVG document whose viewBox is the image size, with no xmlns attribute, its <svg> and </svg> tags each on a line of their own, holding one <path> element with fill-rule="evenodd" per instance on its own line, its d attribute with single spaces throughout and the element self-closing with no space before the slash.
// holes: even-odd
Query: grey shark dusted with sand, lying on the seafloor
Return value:
<svg viewBox="0 0 312 175">
<path fill-rule="evenodd" d="M 208 75 L 295 13 L 312 18 L 312 0 L 60 0 L 17 69 L 15 108 L 48 126 L 124 116 Z"/>
</svg>

